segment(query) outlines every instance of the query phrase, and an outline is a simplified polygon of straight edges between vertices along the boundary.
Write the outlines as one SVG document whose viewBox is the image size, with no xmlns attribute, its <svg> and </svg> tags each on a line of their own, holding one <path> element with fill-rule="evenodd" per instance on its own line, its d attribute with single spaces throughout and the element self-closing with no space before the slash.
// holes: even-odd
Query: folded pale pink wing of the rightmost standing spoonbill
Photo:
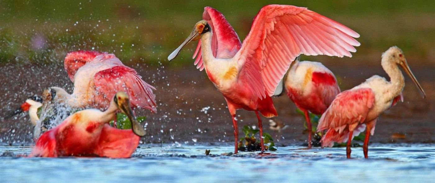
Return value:
<svg viewBox="0 0 435 183">
<path fill-rule="evenodd" d="M 348 124 L 364 122 L 374 103 L 375 94 L 371 88 L 358 88 L 341 92 L 322 114 L 317 131 L 333 128 L 341 133 Z"/>
</svg>

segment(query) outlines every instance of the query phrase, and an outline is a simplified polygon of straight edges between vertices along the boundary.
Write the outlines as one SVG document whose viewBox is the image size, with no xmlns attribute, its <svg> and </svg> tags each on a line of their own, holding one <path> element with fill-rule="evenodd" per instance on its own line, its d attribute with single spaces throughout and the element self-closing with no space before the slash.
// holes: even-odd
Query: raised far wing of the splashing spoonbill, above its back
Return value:
<svg viewBox="0 0 435 183">
<path fill-rule="evenodd" d="M 94 60 L 94 58 L 99 55 L 104 55 L 105 58 L 110 58 L 113 54 L 89 50 L 69 52 L 64 59 L 64 68 L 71 81 L 74 82 L 74 75 L 81 66 L 85 65 L 87 62 Z"/>
</svg>

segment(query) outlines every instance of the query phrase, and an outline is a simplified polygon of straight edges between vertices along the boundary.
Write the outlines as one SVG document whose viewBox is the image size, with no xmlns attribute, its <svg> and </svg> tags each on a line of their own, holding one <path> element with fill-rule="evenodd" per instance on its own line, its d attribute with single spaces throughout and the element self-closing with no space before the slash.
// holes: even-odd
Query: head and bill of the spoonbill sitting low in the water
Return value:
<svg viewBox="0 0 435 183">
<path fill-rule="evenodd" d="M 118 109 L 127 115 L 128 119 L 131 121 L 131 129 L 133 133 L 142 137 L 146 133 L 144 127 L 139 124 L 134 116 L 133 111 L 130 107 L 130 100 L 125 92 L 117 92 L 113 98 L 113 102 L 117 105 Z"/>
</svg>

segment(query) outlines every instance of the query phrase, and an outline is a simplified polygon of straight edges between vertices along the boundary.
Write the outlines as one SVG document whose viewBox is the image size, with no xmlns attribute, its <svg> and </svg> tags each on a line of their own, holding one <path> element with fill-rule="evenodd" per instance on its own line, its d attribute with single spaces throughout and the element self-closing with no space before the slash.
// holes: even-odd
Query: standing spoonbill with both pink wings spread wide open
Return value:
<svg viewBox="0 0 435 183">
<path fill-rule="evenodd" d="M 255 16 L 243 44 L 224 16 L 205 7 L 203 19 L 195 24 L 190 36 L 168 60 L 177 56 L 189 42 L 200 39 L 194 57 L 195 65 L 207 72 L 208 78 L 224 95 L 234 127 L 234 153 L 237 153 L 238 127 L 236 110 L 255 111 L 262 136 L 264 117 L 277 116 L 271 95 L 300 54 L 351 56 L 354 39 L 359 34 L 334 20 L 307 8 L 290 5 L 268 5 Z M 201 53 L 198 52 L 201 50 Z M 264 151 L 263 138 L 261 150 Z"/>
</svg>

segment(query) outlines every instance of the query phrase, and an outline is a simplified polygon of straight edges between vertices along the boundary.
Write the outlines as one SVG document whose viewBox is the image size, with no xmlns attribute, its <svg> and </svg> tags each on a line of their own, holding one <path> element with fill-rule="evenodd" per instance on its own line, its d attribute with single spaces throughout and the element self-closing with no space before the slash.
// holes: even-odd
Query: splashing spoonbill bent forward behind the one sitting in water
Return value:
<svg viewBox="0 0 435 183">
<path fill-rule="evenodd" d="M 65 57 L 64 67 L 74 82 L 74 91 L 71 95 L 59 87 L 50 87 L 44 91 L 43 111 L 41 120 L 35 127 L 35 137 L 39 137 L 41 123 L 47 116 L 44 114 L 50 109 L 49 106 L 55 108 L 54 106 L 61 104 L 73 109 L 106 109 L 110 98 L 117 91 L 126 92 L 130 96 L 131 107 L 156 112 L 155 96 L 152 92 L 155 88 L 144 82 L 134 69 L 125 66 L 114 54 L 95 51 L 70 52 Z"/>
</svg>

